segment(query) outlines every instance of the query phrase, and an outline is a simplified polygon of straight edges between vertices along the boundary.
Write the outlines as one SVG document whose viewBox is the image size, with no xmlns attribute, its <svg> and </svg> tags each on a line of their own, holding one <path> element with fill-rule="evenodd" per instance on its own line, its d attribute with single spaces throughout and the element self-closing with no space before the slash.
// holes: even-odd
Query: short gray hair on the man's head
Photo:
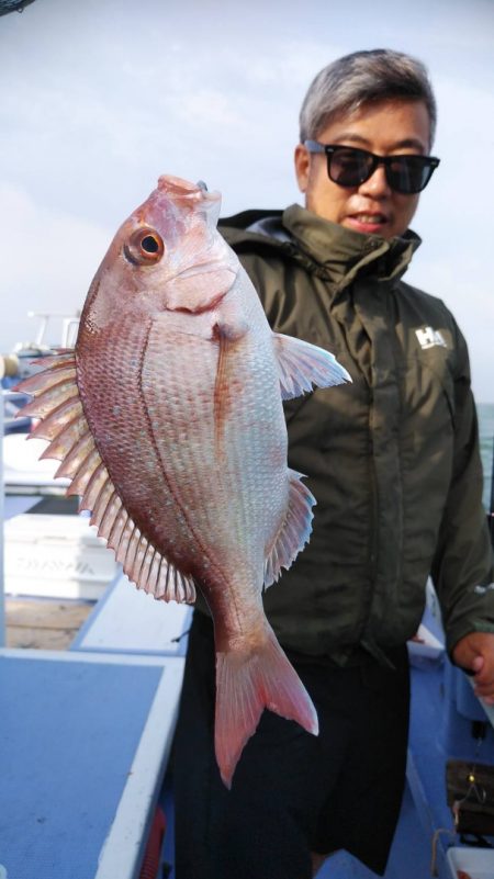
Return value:
<svg viewBox="0 0 494 879">
<path fill-rule="evenodd" d="M 300 111 L 300 140 L 315 140 L 336 116 L 367 103 L 401 98 L 424 101 L 436 132 L 436 99 L 427 68 L 416 58 L 392 49 L 353 52 L 333 61 L 311 83 Z"/>
</svg>

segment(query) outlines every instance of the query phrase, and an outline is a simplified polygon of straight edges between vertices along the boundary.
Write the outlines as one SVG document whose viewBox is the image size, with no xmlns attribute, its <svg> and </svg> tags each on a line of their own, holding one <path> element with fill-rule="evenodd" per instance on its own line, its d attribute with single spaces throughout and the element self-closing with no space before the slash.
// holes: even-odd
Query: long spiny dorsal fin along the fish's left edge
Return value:
<svg viewBox="0 0 494 879">
<path fill-rule="evenodd" d="M 49 440 L 42 457 L 61 462 L 56 476 L 71 480 L 67 495 L 80 496 L 79 510 L 90 510 L 90 523 L 138 589 L 165 601 L 193 602 L 193 579 L 141 533 L 110 478 L 83 414 L 75 352 L 43 358 L 38 363 L 45 369 L 16 390 L 34 397 L 20 415 L 43 419 L 31 432 L 31 437 Z"/>
</svg>

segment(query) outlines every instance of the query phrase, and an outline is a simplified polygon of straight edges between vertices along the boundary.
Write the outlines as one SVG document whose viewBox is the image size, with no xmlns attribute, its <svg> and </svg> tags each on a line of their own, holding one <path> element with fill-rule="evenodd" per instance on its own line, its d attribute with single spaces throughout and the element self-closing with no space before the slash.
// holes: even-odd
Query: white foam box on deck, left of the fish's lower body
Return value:
<svg viewBox="0 0 494 879">
<path fill-rule="evenodd" d="M 5 593 L 97 600 L 117 565 L 83 516 L 22 514 L 4 523 Z"/>
</svg>

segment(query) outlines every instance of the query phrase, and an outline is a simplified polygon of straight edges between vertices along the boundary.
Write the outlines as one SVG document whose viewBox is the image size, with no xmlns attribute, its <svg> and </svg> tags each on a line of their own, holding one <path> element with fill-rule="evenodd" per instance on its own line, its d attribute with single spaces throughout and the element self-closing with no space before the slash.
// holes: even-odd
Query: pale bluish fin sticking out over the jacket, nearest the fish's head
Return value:
<svg viewBox="0 0 494 879">
<path fill-rule="evenodd" d="M 324 348 L 281 333 L 273 333 L 273 340 L 283 399 L 299 397 L 313 385 L 330 387 L 351 382 L 347 370 Z"/>
</svg>

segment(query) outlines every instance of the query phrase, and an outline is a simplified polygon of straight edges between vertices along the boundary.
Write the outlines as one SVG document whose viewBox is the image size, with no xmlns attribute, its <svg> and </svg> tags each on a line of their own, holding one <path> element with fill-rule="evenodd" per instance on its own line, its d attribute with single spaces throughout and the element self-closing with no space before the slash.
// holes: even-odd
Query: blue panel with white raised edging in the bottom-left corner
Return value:
<svg viewBox="0 0 494 879">
<path fill-rule="evenodd" d="M 138 877 L 182 663 L 0 652 L 0 863 L 8 877 Z"/>
</svg>

